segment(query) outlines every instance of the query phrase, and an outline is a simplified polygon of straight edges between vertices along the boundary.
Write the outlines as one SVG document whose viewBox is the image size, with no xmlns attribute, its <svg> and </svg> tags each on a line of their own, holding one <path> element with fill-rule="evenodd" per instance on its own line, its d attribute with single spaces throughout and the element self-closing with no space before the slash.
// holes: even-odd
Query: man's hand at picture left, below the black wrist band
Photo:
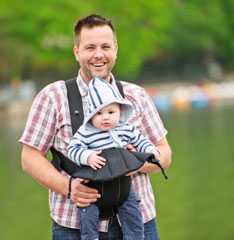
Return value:
<svg viewBox="0 0 234 240">
<path fill-rule="evenodd" d="M 101 197 L 96 189 L 87 187 L 84 183 L 85 180 L 80 178 L 75 178 L 71 182 L 71 200 L 78 207 L 87 207 Z"/>
</svg>

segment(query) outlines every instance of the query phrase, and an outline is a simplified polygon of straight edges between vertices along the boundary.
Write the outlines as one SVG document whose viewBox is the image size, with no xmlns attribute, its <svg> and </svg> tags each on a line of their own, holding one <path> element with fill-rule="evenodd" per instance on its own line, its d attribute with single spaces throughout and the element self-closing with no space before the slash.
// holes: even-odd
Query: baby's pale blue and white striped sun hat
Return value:
<svg viewBox="0 0 234 240">
<path fill-rule="evenodd" d="M 124 99 L 118 89 L 108 81 L 99 77 L 93 78 L 89 83 L 88 110 L 85 113 L 84 124 L 89 123 L 97 112 L 112 103 L 120 104 L 120 123 L 125 123 L 132 113 L 132 104 Z"/>
</svg>

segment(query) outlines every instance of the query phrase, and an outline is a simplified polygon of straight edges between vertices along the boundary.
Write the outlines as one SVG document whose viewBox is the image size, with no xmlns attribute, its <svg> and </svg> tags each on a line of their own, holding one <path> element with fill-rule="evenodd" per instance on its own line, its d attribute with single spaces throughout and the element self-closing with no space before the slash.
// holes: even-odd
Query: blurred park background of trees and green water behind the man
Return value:
<svg viewBox="0 0 234 240">
<path fill-rule="evenodd" d="M 73 24 L 117 28 L 118 79 L 146 87 L 168 129 L 167 182 L 151 176 L 161 239 L 234 239 L 234 1 L 0 1 L 0 239 L 50 239 L 47 190 L 22 172 L 32 97 L 77 74 Z"/>
</svg>

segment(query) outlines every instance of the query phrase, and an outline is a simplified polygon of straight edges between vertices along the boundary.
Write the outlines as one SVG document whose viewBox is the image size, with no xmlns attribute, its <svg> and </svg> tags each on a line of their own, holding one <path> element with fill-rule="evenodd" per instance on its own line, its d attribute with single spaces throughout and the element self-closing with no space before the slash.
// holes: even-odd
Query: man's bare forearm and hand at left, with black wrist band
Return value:
<svg viewBox="0 0 234 240">
<path fill-rule="evenodd" d="M 23 170 L 41 185 L 67 196 L 68 177 L 57 171 L 45 158 L 43 152 L 23 144 L 21 164 Z M 82 182 L 81 179 L 74 179 L 71 189 L 71 200 L 80 207 L 88 206 L 100 197 L 97 190 L 86 187 Z"/>
</svg>

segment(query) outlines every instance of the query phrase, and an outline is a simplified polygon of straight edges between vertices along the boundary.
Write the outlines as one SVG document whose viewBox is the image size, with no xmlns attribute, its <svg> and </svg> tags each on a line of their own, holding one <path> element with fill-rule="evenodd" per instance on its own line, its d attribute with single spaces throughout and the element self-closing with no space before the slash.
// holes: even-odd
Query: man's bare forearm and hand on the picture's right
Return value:
<svg viewBox="0 0 234 240">
<path fill-rule="evenodd" d="M 155 144 L 155 146 L 160 152 L 160 155 L 158 156 L 160 164 L 163 168 L 168 168 L 171 164 L 172 151 L 167 139 L 163 138 L 157 144 Z M 152 173 L 159 172 L 161 170 L 156 164 L 146 162 L 138 171 L 141 173 Z"/>
</svg>

